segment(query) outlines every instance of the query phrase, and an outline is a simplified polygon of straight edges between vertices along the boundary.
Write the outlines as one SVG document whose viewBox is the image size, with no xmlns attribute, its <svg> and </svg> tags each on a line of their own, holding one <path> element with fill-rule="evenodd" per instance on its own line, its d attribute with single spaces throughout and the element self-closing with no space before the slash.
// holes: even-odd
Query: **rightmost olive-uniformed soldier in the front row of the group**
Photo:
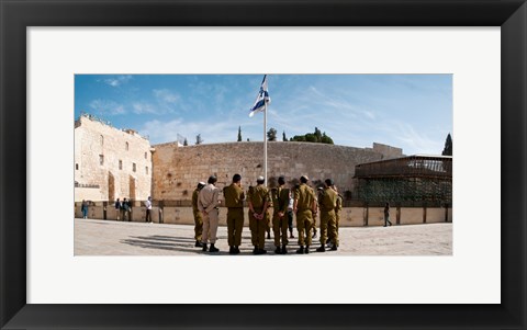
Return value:
<svg viewBox="0 0 527 330">
<path fill-rule="evenodd" d="M 332 250 L 337 250 L 338 235 L 335 218 L 335 208 L 337 207 L 338 194 L 332 189 L 333 180 L 326 179 L 324 192 L 321 195 L 321 247 L 316 249 L 317 252 L 325 252 L 325 244 L 327 235 L 332 240 Z"/>
</svg>

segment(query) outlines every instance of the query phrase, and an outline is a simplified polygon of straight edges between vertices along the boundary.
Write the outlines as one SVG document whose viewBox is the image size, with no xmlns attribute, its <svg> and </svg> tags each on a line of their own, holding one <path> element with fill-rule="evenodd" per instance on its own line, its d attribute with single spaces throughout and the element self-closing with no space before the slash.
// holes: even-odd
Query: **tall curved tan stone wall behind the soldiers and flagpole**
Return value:
<svg viewBox="0 0 527 330">
<path fill-rule="evenodd" d="M 256 185 L 256 179 L 264 175 L 264 143 L 186 147 L 171 143 L 154 148 L 154 200 L 190 200 L 198 182 L 206 182 L 211 174 L 217 177 L 216 186 L 220 189 L 229 184 L 235 173 L 242 175 L 242 184 L 246 187 Z M 340 192 L 352 192 L 356 164 L 402 156 L 401 149 L 392 147 L 388 155 L 382 153 L 384 149 L 269 141 L 268 184 L 273 186 L 279 175 L 285 175 L 288 185 L 293 186 L 301 175 L 306 174 L 312 185 L 332 178 Z"/>
</svg>

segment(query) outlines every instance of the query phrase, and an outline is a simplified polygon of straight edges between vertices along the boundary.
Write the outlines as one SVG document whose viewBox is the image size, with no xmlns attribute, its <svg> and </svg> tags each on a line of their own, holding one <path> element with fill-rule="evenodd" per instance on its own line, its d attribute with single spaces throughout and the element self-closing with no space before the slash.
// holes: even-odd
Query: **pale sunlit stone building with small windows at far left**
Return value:
<svg viewBox="0 0 527 330">
<path fill-rule="evenodd" d="M 75 122 L 75 201 L 144 201 L 152 189 L 152 148 L 133 129 L 117 129 L 92 115 Z"/>
</svg>

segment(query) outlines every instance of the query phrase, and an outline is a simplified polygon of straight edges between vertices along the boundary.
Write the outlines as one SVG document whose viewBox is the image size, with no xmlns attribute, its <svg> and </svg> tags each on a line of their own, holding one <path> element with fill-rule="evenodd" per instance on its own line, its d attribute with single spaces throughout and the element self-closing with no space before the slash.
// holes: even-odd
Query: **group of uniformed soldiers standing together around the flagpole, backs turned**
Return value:
<svg viewBox="0 0 527 330">
<path fill-rule="evenodd" d="M 217 252 L 215 247 L 218 226 L 220 189 L 215 186 L 216 177 L 211 175 L 206 183 L 198 183 L 192 194 L 194 215 L 195 247 L 202 251 Z M 265 185 L 264 177 L 257 179 L 256 186 L 249 186 L 247 194 L 242 187 L 242 175 L 234 174 L 233 182 L 223 189 L 224 206 L 227 207 L 227 241 L 229 254 L 238 254 L 242 244 L 244 227 L 244 201 L 247 201 L 249 230 L 253 254 L 265 254 L 265 240 L 270 238 L 270 228 L 274 238 L 274 253 L 288 253 L 288 229 L 292 235 L 292 216 L 296 215 L 299 234 L 299 254 L 310 253 L 310 247 L 316 231 L 316 218 L 319 212 L 321 247 L 317 252 L 325 252 L 330 243 L 330 250 L 338 249 L 338 221 L 343 197 L 338 194 L 332 179 L 326 179 L 324 186 L 318 187 L 317 194 L 309 184 L 309 178 L 302 175 L 300 184 L 294 190 L 285 187 L 285 178 L 278 178 L 278 186 L 270 191 Z M 292 201 L 291 201 L 292 200 Z M 292 203 L 291 203 L 292 202 Z M 291 205 L 292 204 L 292 205 Z M 272 216 L 269 209 L 272 208 Z M 210 246 L 209 246 L 210 243 Z"/>
</svg>

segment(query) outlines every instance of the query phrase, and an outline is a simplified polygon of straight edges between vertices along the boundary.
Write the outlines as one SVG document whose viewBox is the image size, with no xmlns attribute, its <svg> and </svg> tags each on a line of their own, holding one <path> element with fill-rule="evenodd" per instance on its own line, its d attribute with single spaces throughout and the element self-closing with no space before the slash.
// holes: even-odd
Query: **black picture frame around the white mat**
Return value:
<svg viewBox="0 0 527 330">
<path fill-rule="evenodd" d="M 0 0 L 0 11 L 1 329 L 526 329 L 527 7 L 524 0 Z M 501 26 L 502 155 L 490 151 L 483 157 L 501 157 L 502 303 L 26 304 L 25 166 L 32 161 L 26 158 L 26 27 L 178 25 Z M 298 275 L 287 274 L 293 283 Z M 290 289 L 309 294 L 309 289 L 294 284 Z"/>
</svg>

